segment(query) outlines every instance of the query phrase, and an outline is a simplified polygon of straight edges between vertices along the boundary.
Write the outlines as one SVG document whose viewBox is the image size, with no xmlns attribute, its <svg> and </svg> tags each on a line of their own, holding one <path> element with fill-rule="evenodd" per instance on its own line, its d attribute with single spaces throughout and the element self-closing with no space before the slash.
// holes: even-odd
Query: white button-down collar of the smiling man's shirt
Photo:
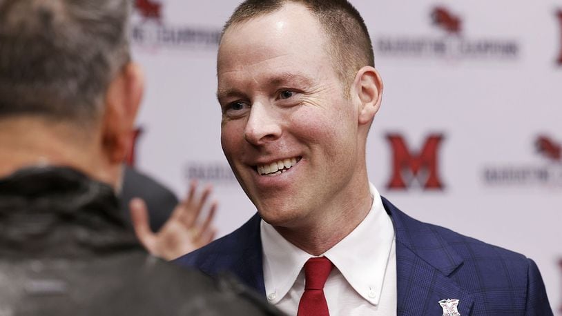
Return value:
<svg viewBox="0 0 562 316">
<path fill-rule="evenodd" d="M 394 227 L 373 184 L 369 183 L 369 190 L 373 204 L 367 217 L 323 255 L 361 297 L 376 305 L 394 242 Z M 269 302 L 276 304 L 287 295 L 304 263 L 314 256 L 291 244 L 263 220 L 260 229 L 265 289 Z"/>
</svg>

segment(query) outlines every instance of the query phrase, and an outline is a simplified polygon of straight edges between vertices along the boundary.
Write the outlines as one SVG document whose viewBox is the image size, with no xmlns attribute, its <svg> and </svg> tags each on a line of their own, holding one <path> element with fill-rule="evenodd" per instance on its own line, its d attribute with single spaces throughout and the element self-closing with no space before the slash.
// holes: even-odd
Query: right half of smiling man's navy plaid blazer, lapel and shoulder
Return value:
<svg viewBox="0 0 562 316">
<path fill-rule="evenodd" d="M 459 299 L 461 315 L 552 315 L 531 259 L 383 204 L 396 231 L 398 315 L 438 315 L 442 299 Z"/>
</svg>

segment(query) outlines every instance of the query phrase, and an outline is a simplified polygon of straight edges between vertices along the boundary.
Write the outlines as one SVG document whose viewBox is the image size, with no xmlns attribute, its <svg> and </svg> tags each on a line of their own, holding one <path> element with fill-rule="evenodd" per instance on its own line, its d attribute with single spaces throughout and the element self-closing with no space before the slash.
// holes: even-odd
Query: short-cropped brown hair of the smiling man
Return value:
<svg viewBox="0 0 562 316">
<path fill-rule="evenodd" d="M 357 71 L 375 66 L 371 38 L 361 15 L 346 0 L 246 0 L 226 21 L 222 34 L 233 24 L 275 12 L 286 3 L 309 9 L 329 39 L 329 55 L 344 88 L 349 88 Z"/>
</svg>

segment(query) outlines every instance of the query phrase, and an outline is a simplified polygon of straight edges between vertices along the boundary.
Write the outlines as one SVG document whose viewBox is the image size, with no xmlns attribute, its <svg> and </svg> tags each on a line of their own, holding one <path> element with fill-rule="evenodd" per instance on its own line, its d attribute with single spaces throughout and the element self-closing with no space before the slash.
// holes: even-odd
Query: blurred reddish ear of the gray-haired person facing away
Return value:
<svg viewBox="0 0 562 316">
<path fill-rule="evenodd" d="M 144 75 L 128 63 L 109 84 L 105 98 L 102 146 L 111 163 L 122 163 L 133 146 L 135 118 L 144 92 Z"/>
</svg>

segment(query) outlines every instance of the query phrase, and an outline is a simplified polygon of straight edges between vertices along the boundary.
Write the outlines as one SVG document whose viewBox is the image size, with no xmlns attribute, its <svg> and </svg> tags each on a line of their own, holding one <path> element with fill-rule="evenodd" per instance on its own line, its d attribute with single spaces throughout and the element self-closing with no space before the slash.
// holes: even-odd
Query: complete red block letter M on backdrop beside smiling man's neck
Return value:
<svg viewBox="0 0 562 316">
<path fill-rule="evenodd" d="M 429 135 L 419 152 L 411 152 L 402 135 L 388 134 L 387 140 L 393 157 L 392 175 L 387 188 L 405 190 L 416 178 L 425 189 L 443 189 L 437 159 L 437 152 L 443 138 L 441 134 Z"/>
</svg>

